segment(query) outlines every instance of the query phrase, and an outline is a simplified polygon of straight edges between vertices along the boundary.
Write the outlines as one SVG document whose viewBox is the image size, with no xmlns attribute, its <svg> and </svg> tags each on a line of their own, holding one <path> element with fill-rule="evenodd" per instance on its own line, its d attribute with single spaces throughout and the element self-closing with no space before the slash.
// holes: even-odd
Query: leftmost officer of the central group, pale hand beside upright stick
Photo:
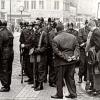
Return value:
<svg viewBox="0 0 100 100">
<path fill-rule="evenodd" d="M 31 35 L 32 34 L 29 30 L 28 24 L 29 24 L 28 22 L 24 22 L 24 28 L 21 31 L 19 41 L 20 41 L 20 48 L 22 49 L 24 72 L 29 78 L 25 82 L 29 82 L 29 84 L 30 84 L 33 82 L 33 78 L 29 72 L 29 68 L 31 66 L 29 51 L 30 51 L 30 46 L 31 46 L 31 37 L 32 37 Z"/>
</svg>

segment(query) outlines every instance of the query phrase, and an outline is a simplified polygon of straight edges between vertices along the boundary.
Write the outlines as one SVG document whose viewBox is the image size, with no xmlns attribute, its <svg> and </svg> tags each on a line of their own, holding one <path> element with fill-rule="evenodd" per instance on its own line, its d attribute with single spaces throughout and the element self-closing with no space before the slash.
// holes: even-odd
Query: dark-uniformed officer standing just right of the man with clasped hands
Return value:
<svg viewBox="0 0 100 100">
<path fill-rule="evenodd" d="M 88 21 L 85 22 L 85 27 L 79 29 L 78 40 L 80 45 L 80 65 L 79 65 L 79 82 L 82 83 L 82 77 L 84 76 L 84 81 L 86 81 L 87 76 L 87 62 L 85 55 L 85 46 L 87 41 L 87 36 L 89 33 Z"/>
</svg>

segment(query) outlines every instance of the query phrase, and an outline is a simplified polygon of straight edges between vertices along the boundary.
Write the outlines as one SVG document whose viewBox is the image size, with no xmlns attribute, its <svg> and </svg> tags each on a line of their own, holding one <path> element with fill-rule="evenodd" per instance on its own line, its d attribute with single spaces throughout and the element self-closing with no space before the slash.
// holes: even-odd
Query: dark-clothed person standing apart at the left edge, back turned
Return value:
<svg viewBox="0 0 100 100">
<path fill-rule="evenodd" d="M 14 57 L 13 39 L 12 33 L 7 29 L 7 22 L 2 21 L 0 28 L 0 80 L 3 87 L 0 92 L 8 92 L 10 90 Z"/>
</svg>

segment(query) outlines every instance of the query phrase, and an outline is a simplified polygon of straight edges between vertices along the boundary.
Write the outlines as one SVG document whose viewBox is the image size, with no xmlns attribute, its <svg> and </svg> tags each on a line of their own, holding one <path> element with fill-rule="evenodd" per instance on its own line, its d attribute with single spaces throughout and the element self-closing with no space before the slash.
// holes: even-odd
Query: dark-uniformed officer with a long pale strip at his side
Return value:
<svg viewBox="0 0 100 100">
<path fill-rule="evenodd" d="M 47 34 L 43 31 L 40 21 L 37 21 L 35 25 L 35 32 L 33 37 L 34 48 L 34 90 L 43 90 L 43 82 L 45 80 L 45 66 L 47 60 Z"/>
</svg>

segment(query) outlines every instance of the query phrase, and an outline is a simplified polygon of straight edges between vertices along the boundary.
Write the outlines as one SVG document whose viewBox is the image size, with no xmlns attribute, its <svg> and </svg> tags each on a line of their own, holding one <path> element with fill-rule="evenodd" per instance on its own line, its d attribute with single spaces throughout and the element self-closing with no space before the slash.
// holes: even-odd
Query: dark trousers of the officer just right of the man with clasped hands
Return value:
<svg viewBox="0 0 100 100">
<path fill-rule="evenodd" d="M 87 76 L 87 61 L 85 51 L 80 52 L 80 65 L 79 65 L 79 77 Z"/>
</svg>

